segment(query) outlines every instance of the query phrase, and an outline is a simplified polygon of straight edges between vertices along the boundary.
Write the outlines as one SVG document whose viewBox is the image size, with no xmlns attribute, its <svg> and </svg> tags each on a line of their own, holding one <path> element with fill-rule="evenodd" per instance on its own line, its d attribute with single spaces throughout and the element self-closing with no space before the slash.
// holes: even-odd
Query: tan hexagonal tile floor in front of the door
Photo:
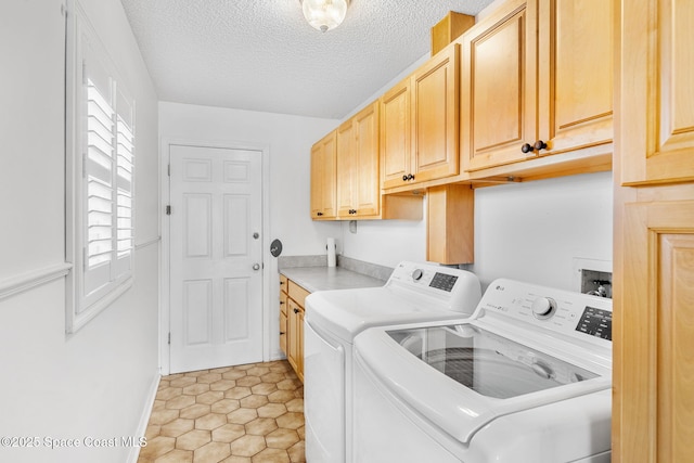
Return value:
<svg viewBox="0 0 694 463">
<path fill-rule="evenodd" d="M 138 463 L 305 462 L 304 385 L 286 360 L 164 376 Z"/>
</svg>

